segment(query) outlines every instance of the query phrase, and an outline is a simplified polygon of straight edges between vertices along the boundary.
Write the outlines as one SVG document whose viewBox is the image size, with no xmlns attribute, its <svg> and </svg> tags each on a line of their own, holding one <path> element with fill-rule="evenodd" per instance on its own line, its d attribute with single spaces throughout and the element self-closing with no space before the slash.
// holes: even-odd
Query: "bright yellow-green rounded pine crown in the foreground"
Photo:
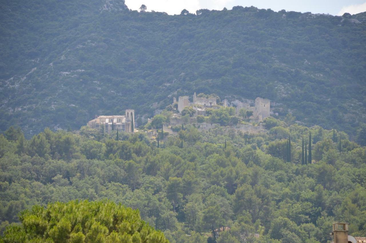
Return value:
<svg viewBox="0 0 366 243">
<path fill-rule="evenodd" d="M 8 227 L 0 242 L 169 243 L 141 219 L 138 210 L 107 200 L 34 205 L 19 219 L 22 224 Z"/>
</svg>

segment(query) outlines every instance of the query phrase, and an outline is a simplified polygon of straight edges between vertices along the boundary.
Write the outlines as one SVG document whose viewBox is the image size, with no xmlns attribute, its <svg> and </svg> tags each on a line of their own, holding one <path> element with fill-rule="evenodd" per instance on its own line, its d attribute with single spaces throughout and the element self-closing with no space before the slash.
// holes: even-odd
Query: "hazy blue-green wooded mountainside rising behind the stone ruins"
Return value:
<svg viewBox="0 0 366 243">
<path fill-rule="evenodd" d="M 147 6 L 149 7 L 149 6 Z M 236 6 L 191 14 L 130 11 L 123 0 L 4 0 L 0 131 L 26 138 L 95 115 L 143 115 L 173 96 L 268 98 L 274 114 L 356 133 L 365 120 L 365 13 Z"/>
</svg>

